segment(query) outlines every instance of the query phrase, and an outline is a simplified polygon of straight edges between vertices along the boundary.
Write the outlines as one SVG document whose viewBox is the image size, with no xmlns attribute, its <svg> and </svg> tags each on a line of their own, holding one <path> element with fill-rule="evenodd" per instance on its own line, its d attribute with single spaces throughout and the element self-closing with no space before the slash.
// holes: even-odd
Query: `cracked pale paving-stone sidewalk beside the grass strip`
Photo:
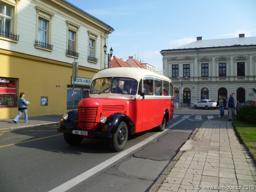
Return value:
<svg viewBox="0 0 256 192">
<path fill-rule="evenodd" d="M 180 151 L 184 153 L 155 191 L 256 191 L 255 163 L 231 121 L 202 123 Z"/>
</svg>

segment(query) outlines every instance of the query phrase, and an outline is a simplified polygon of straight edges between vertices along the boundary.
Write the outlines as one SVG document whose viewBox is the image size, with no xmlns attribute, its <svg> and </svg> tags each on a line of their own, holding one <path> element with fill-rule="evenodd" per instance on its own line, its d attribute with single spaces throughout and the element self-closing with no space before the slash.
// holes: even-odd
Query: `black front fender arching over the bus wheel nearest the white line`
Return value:
<svg viewBox="0 0 256 192">
<path fill-rule="evenodd" d="M 110 115 L 105 122 L 104 127 L 107 127 L 108 133 L 115 133 L 121 122 L 125 122 L 128 126 L 128 131 L 131 135 L 135 134 L 135 126 L 131 118 L 123 113 L 114 113 Z M 104 129 L 104 128 L 103 128 Z"/>
</svg>

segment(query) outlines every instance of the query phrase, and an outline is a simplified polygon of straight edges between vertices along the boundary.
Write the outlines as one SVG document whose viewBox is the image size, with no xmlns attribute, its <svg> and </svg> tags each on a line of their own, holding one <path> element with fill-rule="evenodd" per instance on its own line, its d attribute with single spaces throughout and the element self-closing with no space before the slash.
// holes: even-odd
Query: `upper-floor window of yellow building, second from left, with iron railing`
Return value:
<svg viewBox="0 0 256 192">
<path fill-rule="evenodd" d="M 51 44 L 51 19 L 54 13 L 48 10 L 36 6 L 37 11 L 37 30 L 36 30 L 36 40 L 35 48 L 44 49 L 51 51 L 53 45 Z"/>
</svg>

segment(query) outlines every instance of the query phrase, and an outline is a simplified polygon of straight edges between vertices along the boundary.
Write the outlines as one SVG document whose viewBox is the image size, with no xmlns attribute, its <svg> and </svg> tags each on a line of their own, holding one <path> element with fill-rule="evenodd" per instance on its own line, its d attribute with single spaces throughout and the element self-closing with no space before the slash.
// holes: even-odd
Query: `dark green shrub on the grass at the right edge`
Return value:
<svg viewBox="0 0 256 192">
<path fill-rule="evenodd" d="M 256 106 L 246 106 L 240 109 L 237 115 L 239 121 L 246 121 L 248 123 L 256 123 Z"/>
</svg>

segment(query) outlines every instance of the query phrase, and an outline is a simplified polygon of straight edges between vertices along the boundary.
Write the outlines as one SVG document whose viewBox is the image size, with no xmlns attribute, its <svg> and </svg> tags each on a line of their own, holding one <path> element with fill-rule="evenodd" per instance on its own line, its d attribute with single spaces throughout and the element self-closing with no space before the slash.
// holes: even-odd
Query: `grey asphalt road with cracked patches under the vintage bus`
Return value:
<svg viewBox="0 0 256 192">
<path fill-rule="evenodd" d="M 179 109 L 164 132 L 129 137 L 122 152 L 107 140 L 69 146 L 56 126 L 4 131 L 0 136 L 0 191 L 148 191 L 179 148 L 219 110 Z"/>
</svg>

